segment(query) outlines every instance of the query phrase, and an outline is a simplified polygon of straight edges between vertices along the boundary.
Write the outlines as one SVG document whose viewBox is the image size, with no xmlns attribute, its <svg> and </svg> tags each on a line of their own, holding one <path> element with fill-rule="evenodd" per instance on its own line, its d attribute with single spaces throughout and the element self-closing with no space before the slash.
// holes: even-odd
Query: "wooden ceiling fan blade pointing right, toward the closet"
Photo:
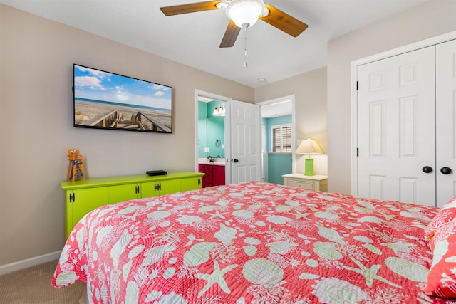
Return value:
<svg viewBox="0 0 456 304">
<path fill-rule="evenodd" d="M 265 6 L 269 9 L 269 14 L 265 17 L 259 17 L 259 19 L 271 24 L 271 26 L 279 28 L 279 30 L 284 31 L 293 37 L 299 36 L 299 34 L 308 27 L 306 23 L 276 9 L 274 6 L 269 4 L 266 4 Z"/>
</svg>

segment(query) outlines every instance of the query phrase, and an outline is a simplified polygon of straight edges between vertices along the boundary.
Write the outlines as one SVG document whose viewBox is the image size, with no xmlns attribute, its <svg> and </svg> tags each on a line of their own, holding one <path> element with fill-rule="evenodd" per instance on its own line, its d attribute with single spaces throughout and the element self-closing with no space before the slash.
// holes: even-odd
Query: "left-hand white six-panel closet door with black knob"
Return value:
<svg viewBox="0 0 456 304">
<path fill-rule="evenodd" d="M 361 65 L 358 84 L 358 195 L 435 206 L 435 47 Z"/>
</svg>

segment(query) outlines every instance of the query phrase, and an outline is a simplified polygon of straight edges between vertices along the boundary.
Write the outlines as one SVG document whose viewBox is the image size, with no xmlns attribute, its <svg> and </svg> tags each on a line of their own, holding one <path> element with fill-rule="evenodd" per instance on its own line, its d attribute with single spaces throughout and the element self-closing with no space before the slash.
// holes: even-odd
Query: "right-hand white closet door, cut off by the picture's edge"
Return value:
<svg viewBox="0 0 456 304">
<path fill-rule="evenodd" d="M 456 41 L 436 46 L 437 206 L 456 195 Z M 440 170 L 450 168 L 450 174 Z M 445 172 L 445 170 L 444 170 Z"/>
</svg>

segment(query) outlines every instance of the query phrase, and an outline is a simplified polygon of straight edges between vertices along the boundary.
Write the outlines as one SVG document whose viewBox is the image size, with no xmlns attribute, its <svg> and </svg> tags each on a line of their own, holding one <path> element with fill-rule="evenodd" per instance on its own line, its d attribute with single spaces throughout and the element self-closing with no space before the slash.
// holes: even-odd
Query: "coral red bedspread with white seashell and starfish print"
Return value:
<svg viewBox="0 0 456 304">
<path fill-rule="evenodd" d="M 436 208 L 247 182 L 102 206 L 53 285 L 93 303 L 445 303 L 423 293 Z"/>
</svg>

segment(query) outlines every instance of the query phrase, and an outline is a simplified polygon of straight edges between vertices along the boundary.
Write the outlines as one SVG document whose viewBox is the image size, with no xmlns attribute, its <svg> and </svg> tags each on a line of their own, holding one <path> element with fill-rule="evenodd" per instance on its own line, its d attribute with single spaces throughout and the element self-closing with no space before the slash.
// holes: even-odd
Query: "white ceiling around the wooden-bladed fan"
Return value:
<svg viewBox="0 0 456 304">
<path fill-rule="evenodd" d="M 427 0 L 265 0 L 309 25 L 294 38 L 263 21 L 219 48 L 229 19 L 224 10 L 165 16 L 161 6 L 201 0 L 0 0 L 172 61 L 258 87 L 326 65 L 329 40 Z M 439 0 L 432 0 L 439 1 Z M 244 68 L 244 48 L 247 67 Z"/>
</svg>

